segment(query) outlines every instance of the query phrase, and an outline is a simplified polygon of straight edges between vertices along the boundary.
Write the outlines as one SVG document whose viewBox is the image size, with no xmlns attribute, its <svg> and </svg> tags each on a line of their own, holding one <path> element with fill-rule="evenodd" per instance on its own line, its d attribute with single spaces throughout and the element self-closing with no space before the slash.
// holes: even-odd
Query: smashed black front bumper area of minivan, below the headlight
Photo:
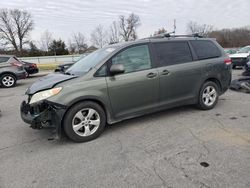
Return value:
<svg viewBox="0 0 250 188">
<path fill-rule="evenodd" d="M 20 107 L 22 120 L 31 128 L 51 128 L 52 138 L 61 138 L 61 125 L 67 107 L 58 103 L 44 100 L 39 104 L 30 105 L 23 101 Z"/>
</svg>

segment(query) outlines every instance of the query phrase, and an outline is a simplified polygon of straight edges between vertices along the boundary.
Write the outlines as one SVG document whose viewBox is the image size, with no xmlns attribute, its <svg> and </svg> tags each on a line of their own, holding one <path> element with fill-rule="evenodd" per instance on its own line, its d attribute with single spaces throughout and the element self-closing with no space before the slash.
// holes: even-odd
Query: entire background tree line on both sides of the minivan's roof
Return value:
<svg viewBox="0 0 250 188">
<path fill-rule="evenodd" d="M 108 44 L 136 40 L 137 28 L 140 25 L 138 15 L 134 13 L 127 17 L 121 15 L 109 27 L 97 25 L 90 34 L 90 46 L 87 37 L 81 32 L 72 33 L 66 45 L 62 39 L 55 39 L 48 30 L 41 34 L 39 40 L 32 41 L 30 39 L 30 34 L 34 29 L 32 15 L 25 10 L 0 9 L 0 54 L 43 56 L 91 52 Z M 204 37 L 216 38 L 225 48 L 250 44 L 249 27 L 216 30 L 211 25 L 198 24 L 193 21 L 190 21 L 186 27 L 187 33 L 199 33 Z M 166 32 L 167 29 L 163 27 L 150 36 Z"/>
</svg>

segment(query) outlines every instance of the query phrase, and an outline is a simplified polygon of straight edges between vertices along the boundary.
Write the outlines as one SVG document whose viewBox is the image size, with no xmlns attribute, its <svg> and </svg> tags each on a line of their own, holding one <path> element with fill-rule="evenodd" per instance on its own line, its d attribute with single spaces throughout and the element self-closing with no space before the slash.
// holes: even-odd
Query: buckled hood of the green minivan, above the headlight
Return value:
<svg viewBox="0 0 250 188">
<path fill-rule="evenodd" d="M 40 78 L 34 84 L 32 84 L 26 91 L 26 94 L 32 95 L 38 91 L 46 90 L 54 87 L 56 84 L 76 78 L 73 75 L 51 73 L 47 76 Z"/>
</svg>

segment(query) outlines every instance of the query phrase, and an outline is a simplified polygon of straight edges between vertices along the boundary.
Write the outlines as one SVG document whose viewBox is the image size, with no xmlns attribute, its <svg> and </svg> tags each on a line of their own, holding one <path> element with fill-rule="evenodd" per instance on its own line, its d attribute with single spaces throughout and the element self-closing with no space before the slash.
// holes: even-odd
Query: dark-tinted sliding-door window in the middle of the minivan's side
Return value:
<svg viewBox="0 0 250 188">
<path fill-rule="evenodd" d="M 187 63 L 193 60 L 187 42 L 159 42 L 154 44 L 160 66 Z"/>
</svg>

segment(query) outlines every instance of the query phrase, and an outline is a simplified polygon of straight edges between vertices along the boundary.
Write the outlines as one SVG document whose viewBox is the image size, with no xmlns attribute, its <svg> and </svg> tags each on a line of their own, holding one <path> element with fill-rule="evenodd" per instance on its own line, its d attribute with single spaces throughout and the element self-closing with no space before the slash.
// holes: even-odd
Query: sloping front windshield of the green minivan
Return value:
<svg viewBox="0 0 250 188">
<path fill-rule="evenodd" d="M 72 65 L 65 72 L 65 74 L 82 76 L 85 73 L 89 72 L 93 67 L 95 67 L 98 63 L 105 59 L 114 50 L 115 48 L 102 48 L 95 52 L 92 52 L 91 54 L 80 59 L 74 65 Z"/>
</svg>

